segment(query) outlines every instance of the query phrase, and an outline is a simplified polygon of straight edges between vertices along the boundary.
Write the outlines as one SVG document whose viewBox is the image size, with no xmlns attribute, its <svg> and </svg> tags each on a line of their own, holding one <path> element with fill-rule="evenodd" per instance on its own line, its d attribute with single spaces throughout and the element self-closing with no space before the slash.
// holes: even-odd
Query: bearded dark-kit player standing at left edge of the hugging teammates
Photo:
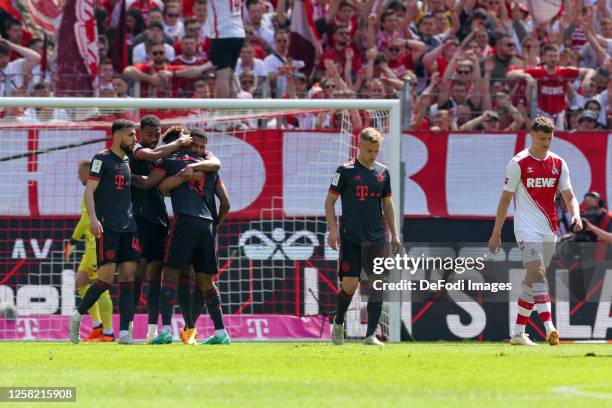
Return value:
<svg viewBox="0 0 612 408">
<path fill-rule="evenodd" d="M 79 342 L 83 315 L 113 284 L 119 271 L 119 343 L 134 344 L 134 275 L 140 259 L 140 243 L 132 213 L 131 173 L 127 154 L 136 144 L 136 125 L 125 119 L 111 126 L 113 143 L 110 149 L 96 154 L 91 161 L 85 187 L 85 206 L 89 228 L 96 237 L 98 280 L 70 318 L 70 340 Z"/>
</svg>

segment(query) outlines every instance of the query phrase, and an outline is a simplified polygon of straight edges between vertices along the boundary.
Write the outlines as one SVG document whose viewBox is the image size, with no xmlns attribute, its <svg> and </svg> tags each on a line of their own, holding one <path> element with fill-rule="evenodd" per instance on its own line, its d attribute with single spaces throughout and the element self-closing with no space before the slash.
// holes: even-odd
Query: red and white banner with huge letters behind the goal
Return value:
<svg viewBox="0 0 612 408">
<path fill-rule="evenodd" d="M 0 216 L 77 216 L 83 191 L 77 163 L 105 146 L 81 144 L 105 134 L 95 128 L 0 129 L 0 174 L 6 177 Z M 351 151 L 351 140 L 345 138 L 309 131 L 211 133 L 208 146 L 223 163 L 231 217 L 323 216 L 331 177 Z M 528 139 L 525 133 L 402 135 L 404 215 L 494 217 L 506 164 L 528 146 Z M 70 144 L 80 146 L 65 148 Z M 40 150 L 48 152 L 4 160 Z M 552 150 L 567 161 L 579 198 L 592 190 L 606 201 L 612 197 L 612 134 L 557 132 Z M 383 163 L 385 157 L 383 145 Z"/>
</svg>

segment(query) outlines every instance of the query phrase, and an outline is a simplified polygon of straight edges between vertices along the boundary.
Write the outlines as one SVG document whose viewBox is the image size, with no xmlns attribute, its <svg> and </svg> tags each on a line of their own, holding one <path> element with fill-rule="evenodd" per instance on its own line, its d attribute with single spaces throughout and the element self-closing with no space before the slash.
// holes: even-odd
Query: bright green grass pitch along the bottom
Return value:
<svg viewBox="0 0 612 408">
<path fill-rule="evenodd" d="M 612 406 L 605 344 L 0 343 L 0 350 L 1 386 L 77 387 L 78 404 L 53 406 Z"/>
</svg>

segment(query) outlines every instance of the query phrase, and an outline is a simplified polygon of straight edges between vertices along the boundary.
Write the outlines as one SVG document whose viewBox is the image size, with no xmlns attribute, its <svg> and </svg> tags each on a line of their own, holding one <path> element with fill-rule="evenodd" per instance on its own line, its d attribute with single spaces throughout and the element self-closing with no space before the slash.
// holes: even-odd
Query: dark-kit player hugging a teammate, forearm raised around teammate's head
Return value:
<svg viewBox="0 0 612 408">
<path fill-rule="evenodd" d="M 144 116 L 140 120 L 140 142 L 136 143 L 134 154 L 130 155 L 132 174 L 149 175 L 151 168 L 159 164 L 161 159 L 191 143 L 191 136 L 181 133 L 172 143 L 157 146 L 160 137 L 161 122 L 159 119 L 153 115 Z M 164 255 L 164 243 L 168 238 L 168 213 L 164 196 L 157 186 L 145 190 L 132 185 L 132 205 L 149 286 L 147 292 L 149 326 L 146 339 L 148 343 L 157 336 L 161 261 Z M 143 263 L 142 260 L 141 263 Z M 139 275 L 140 273 L 137 273 L 134 280 L 134 308 L 138 306 L 140 299 L 143 277 Z"/>
</svg>

